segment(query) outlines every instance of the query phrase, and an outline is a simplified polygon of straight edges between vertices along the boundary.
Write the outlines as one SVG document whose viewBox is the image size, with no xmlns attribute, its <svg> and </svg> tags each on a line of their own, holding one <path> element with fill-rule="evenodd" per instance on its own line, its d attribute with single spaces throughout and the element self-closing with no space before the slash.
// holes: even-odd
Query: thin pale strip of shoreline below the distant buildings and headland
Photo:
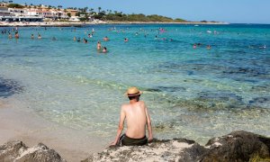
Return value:
<svg viewBox="0 0 270 162">
<path fill-rule="evenodd" d="M 13 22 L 13 23 L 6 23 L 0 22 L 0 27 L 33 27 L 33 26 L 40 26 L 40 27 L 80 27 L 89 24 L 229 24 L 229 23 L 196 23 L 196 22 L 186 22 L 186 23 L 175 23 L 175 22 L 97 22 L 97 23 L 71 23 L 71 22 L 42 22 L 42 23 L 20 23 L 20 22 Z"/>
</svg>

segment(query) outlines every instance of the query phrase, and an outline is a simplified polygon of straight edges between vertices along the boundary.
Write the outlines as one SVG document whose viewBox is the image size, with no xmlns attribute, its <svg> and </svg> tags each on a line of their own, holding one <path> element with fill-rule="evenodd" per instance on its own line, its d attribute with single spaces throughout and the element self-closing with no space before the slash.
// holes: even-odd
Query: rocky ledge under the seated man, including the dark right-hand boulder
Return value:
<svg viewBox="0 0 270 162">
<path fill-rule="evenodd" d="M 148 146 L 106 148 L 82 162 L 93 161 L 183 161 L 270 162 L 270 139 L 247 131 L 234 131 L 210 139 L 205 147 L 193 140 L 155 140 Z"/>
</svg>

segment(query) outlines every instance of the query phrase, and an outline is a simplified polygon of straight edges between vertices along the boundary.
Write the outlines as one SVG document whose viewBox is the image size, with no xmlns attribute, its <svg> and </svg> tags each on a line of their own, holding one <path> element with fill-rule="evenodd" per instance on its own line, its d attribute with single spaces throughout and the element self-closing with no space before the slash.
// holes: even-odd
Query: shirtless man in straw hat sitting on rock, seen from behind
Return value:
<svg viewBox="0 0 270 162">
<path fill-rule="evenodd" d="M 137 87 L 130 87 L 126 95 L 130 103 L 121 105 L 121 115 L 117 134 L 111 146 L 142 146 L 153 140 L 151 119 L 146 104 L 139 101 L 141 91 Z M 127 121 L 127 130 L 121 135 L 124 121 Z M 148 128 L 148 138 L 146 137 Z"/>
</svg>

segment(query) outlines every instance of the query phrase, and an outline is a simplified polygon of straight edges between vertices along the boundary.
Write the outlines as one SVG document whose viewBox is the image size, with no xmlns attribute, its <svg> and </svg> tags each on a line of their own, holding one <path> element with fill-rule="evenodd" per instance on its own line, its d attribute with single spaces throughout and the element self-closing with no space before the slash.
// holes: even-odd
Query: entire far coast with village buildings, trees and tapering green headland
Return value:
<svg viewBox="0 0 270 162">
<path fill-rule="evenodd" d="M 49 4 L 15 4 L 0 2 L 0 25 L 57 25 L 58 23 L 193 23 L 180 18 L 157 14 L 124 14 L 109 9 L 90 7 L 67 7 Z M 207 23 L 201 21 L 200 23 Z M 211 22 L 216 23 L 216 22 Z"/>
</svg>

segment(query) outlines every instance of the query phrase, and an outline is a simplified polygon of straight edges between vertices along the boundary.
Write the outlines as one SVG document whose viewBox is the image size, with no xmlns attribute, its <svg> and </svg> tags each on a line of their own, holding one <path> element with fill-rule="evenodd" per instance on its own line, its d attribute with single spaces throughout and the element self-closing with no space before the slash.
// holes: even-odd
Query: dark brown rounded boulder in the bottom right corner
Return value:
<svg viewBox="0 0 270 162">
<path fill-rule="evenodd" d="M 202 157 L 202 162 L 244 162 L 253 158 L 270 158 L 270 139 L 246 131 L 234 131 L 229 135 L 210 139 L 206 147 L 210 150 Z"/>
</svg>

